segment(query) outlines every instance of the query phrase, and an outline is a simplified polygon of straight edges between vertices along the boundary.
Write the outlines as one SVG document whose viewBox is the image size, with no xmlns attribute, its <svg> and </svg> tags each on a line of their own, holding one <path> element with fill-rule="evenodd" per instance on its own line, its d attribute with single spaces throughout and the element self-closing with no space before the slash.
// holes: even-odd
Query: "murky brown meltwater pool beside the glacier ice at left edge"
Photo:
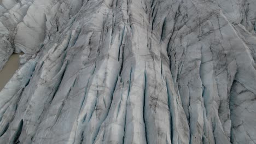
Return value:
<svg viewBox="0 0 256 144">
<path fill-rule="evenodd" d="M 0 71 L 0 91 L 14 75 L 15 71 L 20 67 L 19 56 L 23 54 L 24 53 L 13 53 L 13 55 L 10 56 L 8 62 L 4 65 L 2 71 Z"/>
</svg>

